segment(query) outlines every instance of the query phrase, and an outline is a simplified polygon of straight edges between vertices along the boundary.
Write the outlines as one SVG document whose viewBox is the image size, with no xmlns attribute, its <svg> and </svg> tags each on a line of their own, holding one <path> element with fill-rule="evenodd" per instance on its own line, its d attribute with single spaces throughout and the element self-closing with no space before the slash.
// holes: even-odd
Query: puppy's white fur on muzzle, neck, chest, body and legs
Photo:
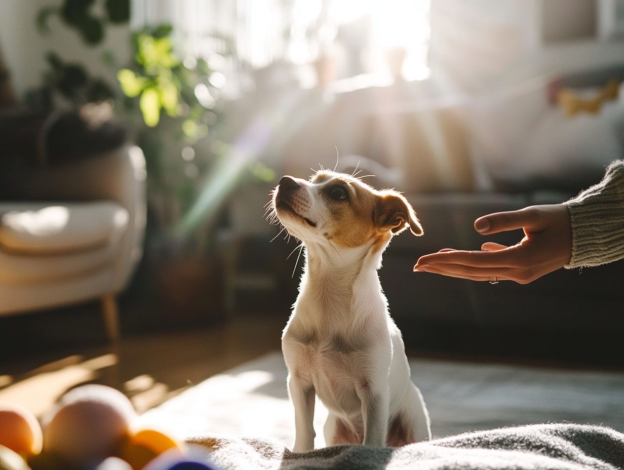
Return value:
<svg viewBox="0 0 624 470">
<path fill-rule="evenodd" d="M 361 443 L 385 446 L 387 438 L 392 442 L 388 428 L 397 417 L 405 443 L 431 438 L 426 406 L 411 382 L 401 332 L 379 283 L 385 246 L 376 252 L 374 241 L 356 248 L 336 246 L 326 236 L 331 212 L 319 197 L 319 184 L 296 182 L 301 188 L 293 207 L 316 227 L 276 209 L 288 232 L 305 244 L 306 258 L 299 296 L 282 336 L 295 406 L 293 450 L 314 448 L 314 394 L 329 410 L 324 426 L 328 445 L 337 443 L 346 426 L 356 436 L 363 434 Z"/>
</svg>

